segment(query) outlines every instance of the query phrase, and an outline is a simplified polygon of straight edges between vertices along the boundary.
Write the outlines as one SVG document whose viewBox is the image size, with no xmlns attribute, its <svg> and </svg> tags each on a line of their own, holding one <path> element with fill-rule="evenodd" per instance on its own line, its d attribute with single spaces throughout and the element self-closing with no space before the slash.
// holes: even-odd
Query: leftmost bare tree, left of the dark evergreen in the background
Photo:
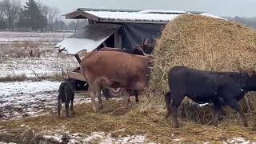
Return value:
<svg viewBox="0 0 256 144">
<path fill-rule="evenodd" d="M 3 11 L 6 14 L 10 30 L 14 30 L 14 23 L 18 21 L 18 15 L 22 10 L 20 0 L 4 0 Z"/>
</svg>

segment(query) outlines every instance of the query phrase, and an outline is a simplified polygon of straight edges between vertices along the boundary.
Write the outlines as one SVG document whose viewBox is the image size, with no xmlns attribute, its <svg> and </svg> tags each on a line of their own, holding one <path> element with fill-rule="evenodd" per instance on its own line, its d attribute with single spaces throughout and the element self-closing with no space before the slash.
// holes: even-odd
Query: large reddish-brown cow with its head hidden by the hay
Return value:
<svg viewBox="0 0 256 144">
<path fill-rule="evenodd" d="M 127 94 L 130 90 L 142 91 L 147 85 L 151 59 L 146 56 L 120 53 L 117 51 L 93 51 L 82 58 L 81 70 L 89 84 L 93 109 L 102 110 L 101 90 L 103 87 L 122 87 L 126 94 L 122 97 L 128 108 Z M 98 98 L 98 108 L 95 103 Z"/>
</svg>

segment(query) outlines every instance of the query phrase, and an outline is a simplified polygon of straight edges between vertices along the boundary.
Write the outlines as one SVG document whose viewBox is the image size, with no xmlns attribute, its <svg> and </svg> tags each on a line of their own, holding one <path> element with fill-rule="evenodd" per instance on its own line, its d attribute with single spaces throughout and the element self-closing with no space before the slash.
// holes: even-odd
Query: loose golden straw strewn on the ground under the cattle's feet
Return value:
<svg viewBox="0 0 256 144">
<path fill-rule="evenodd" d="M 256 131 L 251 127 L 242 127 L 238 119 L 224 119 L 218 128 L 182 119 L 180 128 L 172 128 L 170 119 L 163 118 L 165 110 L 158 110 L 154 107 L 147 110 L 139 108 L 139 104 L 133 104 L 130 110 L 123 110 L 121 102 L 111 100 L 110 102 L 104 101 L 104 110 L 94 113 L 91 104 L 80 104 L 74 106 L 75 114 L 68 119 L 64 118 L 65 111 L 62 109 L 61 118 L 51 113 L 36 118 L 0 122 L 0 126 L 15 129 L 23 124 L 30 126 L 36 132 L 57 130 L 65 126 L 66 130 L 71 133 L 90 134 L 94 131 L 104 131 L 113 136 L 147 134 L 150 140 L 160 143 L 170 143 L 174 138 L 182 138 L 182 142 L 221 143 L 234 137 L 256 141 Z M 250 126 L 252 126 L 251 121 Z"/>
</svg>

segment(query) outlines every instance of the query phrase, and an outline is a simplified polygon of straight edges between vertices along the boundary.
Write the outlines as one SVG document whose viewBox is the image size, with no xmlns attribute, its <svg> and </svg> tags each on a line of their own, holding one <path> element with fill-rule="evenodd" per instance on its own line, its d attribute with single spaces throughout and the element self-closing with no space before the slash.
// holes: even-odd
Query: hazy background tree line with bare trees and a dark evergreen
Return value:
<svg viewBox="0 0 256 144">
<path fill-rule="evenodd" d="M 24 6 L 20 0 L 0 1 L 0 30 L 55 31 L 76 30 L 84 21 L 63 22 L 57 7 L 28 0 Z"/>
</svg>

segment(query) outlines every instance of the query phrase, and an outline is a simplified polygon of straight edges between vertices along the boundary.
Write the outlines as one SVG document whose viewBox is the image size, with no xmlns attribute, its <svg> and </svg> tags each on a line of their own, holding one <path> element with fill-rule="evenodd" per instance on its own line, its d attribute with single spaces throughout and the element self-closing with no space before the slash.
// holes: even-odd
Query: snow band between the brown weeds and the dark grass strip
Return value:
<svg viewBox="0 0 256 144">
<path fill-rule="evenodd" d="M 72 70 L 78 62 L 75 58 L 9 58 L 0 62 L 0 78 L 26 75 L 26 77 L 51 76 Z"/>
</svg>

